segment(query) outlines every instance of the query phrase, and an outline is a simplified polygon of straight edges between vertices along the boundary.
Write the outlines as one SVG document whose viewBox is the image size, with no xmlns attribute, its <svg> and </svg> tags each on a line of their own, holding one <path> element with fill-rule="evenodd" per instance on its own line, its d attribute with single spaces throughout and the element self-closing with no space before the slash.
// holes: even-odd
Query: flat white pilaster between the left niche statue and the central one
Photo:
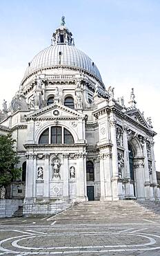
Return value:
<svg viewBox="0 0 160 256">
<path fill-rule="evenodd" d="M 44 155 L 44 197 L 49 199 L 50 197 L 50 154 Z"/>
</svg>

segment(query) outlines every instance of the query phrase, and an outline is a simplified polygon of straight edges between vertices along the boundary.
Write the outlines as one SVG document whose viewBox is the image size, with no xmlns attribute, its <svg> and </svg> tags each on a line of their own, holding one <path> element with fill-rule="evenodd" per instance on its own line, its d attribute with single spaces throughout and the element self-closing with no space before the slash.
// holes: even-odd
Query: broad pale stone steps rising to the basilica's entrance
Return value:
<svg viewBox="0 0 160 256">
<path fill-rule="evenodd" d="M 155 217 L 159 218 L 160 203 L 158 206 L 159 211 L 154 211 L 152 208 L 147 208 L 145 203 L 137 201 L 88 201 L 78 203 L 72 208 L 60 212 L 52 217 L 52 220 L 72 221 L 72 223 L 89 221 L 94 223 L 94 221 L 105 222 L 110 219 L 129 219 L 130 221 L 134 219 L 153 219 Z"/>
</svg>

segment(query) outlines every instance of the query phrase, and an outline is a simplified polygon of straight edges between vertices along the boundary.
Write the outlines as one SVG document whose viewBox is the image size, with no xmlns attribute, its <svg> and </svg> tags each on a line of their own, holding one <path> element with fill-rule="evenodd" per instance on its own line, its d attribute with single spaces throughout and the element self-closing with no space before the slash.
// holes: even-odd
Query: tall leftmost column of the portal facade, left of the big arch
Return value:
<svg viewBox="0 0 160 256">
<path fill-rule="evenodd" d="M 111 113 L 112 114 L 112 113 Z M 118 159 L 117 159 L 117 138 L 116 138 L 116 123 L 114 116 L 110 117 L 110 137 L 112 140 L 112 199 L 119 199 L 118 192 L 118 179 L 119 179 L 119 170 L 118 170 Z"/>
</svg>

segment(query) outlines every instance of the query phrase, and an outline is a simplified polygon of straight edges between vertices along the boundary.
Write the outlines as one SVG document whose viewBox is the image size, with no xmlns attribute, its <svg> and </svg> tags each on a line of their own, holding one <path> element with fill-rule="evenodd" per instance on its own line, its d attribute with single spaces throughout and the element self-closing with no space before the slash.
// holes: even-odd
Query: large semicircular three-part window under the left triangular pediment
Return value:
<svg viewBox="0 0 160 256">
<path fill-rule="evenodd" d="M 43 131 L 39 137 L 39 144 L 74 144 L 74 139 L 68 129 L 52 126 Z"/>
</svg>

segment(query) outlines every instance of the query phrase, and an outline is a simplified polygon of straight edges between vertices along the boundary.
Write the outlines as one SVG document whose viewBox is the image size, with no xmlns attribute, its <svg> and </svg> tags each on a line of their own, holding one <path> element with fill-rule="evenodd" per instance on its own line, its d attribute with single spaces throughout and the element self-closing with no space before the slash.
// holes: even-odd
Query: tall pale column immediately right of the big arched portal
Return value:
<svg viewBox="0 0 160 256">
<path fill-rule="evenodd" d="M 148 154 L 147 154 L 146 142 L 143 144 L 143 156 L 144 156 L 145 192 L 146 192 L 146 198 L 150 199 L 150 176 L 149 176 L 149 170 L 148 170 Z"/>
</svg>

